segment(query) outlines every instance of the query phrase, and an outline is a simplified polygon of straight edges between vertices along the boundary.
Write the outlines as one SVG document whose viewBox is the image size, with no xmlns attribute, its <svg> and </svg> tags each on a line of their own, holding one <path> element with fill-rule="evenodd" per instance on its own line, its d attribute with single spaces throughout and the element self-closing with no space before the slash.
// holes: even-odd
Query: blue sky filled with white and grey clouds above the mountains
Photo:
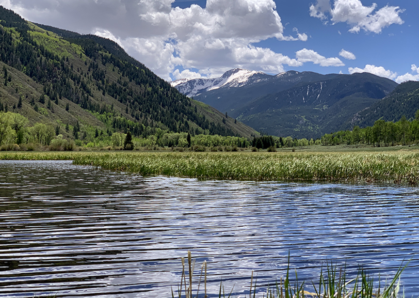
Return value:
<svg viewBox="0 0 419 298">
<path fill-rule="evenodd" d="M 241 67 L 419 80 L 417 0 L 0 0 L 116 41 L 166 80 Z"/>
</svg>

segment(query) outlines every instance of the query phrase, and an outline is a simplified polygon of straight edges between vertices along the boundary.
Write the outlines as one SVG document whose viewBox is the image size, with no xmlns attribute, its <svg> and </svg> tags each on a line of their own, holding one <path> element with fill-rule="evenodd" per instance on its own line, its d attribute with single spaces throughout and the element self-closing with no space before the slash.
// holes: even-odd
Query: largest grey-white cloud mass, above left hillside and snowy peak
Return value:
<svg viewBox="0 0 419 298">
<path fill-rule="evenodd" d="M 199 69 L 213 75 L 234 67 L 281 72 L 302 62 L 269 48 L 260 41 L 306 41 L 297 29 L 285 32 L 274 0 L 207 0 L 172 7 L 175 0 L 0 0 L 33 22 L 79 33 L 107 37 L 124 47 L 162 78 Z M 179 66 L 179 67 L 178 67 Z"/>
</svg>

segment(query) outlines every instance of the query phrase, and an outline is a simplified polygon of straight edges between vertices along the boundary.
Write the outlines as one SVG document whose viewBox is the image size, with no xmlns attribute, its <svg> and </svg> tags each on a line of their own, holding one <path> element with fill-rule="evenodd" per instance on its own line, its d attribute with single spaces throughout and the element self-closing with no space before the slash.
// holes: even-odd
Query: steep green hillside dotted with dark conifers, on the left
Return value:
<svg viewBox="0 0 419 298">
<path fill-rule="evenodd" d="M 0 112 L 53 126 L 64 138 L 256 134 L 180 94 L 111 40 L 38 26 L 0 6 L 0 44 Z"/>
</svg>

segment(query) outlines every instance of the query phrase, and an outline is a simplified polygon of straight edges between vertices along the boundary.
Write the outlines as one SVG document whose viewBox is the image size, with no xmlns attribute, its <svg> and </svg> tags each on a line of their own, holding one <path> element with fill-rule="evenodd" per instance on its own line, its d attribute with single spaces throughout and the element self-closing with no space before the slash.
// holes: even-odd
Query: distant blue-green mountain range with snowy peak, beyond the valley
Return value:
<svg viewBox="0 0 419 298">
<path fill-rule="evenodd" d="M 352 129 L 356 113 L 386 97 L 398 84 L 370 73 L 288 71 L 272 76 L 232 69 L 220 78 L 176 80 L 171 85 L 257 131 L 319 138 Z"/>
</svg>

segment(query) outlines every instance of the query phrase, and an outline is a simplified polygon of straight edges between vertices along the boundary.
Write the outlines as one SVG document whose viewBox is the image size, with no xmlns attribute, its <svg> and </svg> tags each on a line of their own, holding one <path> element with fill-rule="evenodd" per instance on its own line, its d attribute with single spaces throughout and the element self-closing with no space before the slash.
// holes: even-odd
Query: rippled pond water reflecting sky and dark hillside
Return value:
<svg viewBox="0 0 419 298">
<path fill-rule="evenodd" d="M 0 297 L 166 298 L 179 258 L 210 289 L 317 280 L 327 261 L 391 276 L 419 296 L 419 189 L 143 178 L 70 161 L 0 161 Z M 199 267 L 199 268 L 198 268 Z M 199 275 L 200 266 L 195 267 Z M 201 292 L 202 293 L 202 292 Z M 241 295 L 242 294 L 242 295 Z"/>
</svg>

